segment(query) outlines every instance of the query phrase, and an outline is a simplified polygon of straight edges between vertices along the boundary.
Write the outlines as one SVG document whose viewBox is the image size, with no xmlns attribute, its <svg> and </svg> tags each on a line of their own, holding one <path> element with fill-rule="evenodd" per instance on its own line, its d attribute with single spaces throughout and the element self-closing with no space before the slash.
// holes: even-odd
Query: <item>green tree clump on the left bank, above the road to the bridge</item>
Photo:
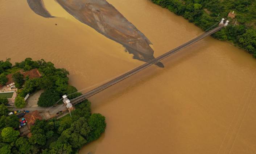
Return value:
<svg viewBox="0 0 256 154">
<path fill-rule="evenodd" d="M 69 75 L 69 72 L 64 68 L 55 68 L 51 62 L 46 62 L 43 59 L 33 61 L 31 58 L 26 58 L 20 63 L 15 63 L 14 67 L 26 71 L 37 68 L 40 71 L 42 77 L 27 79 L 18 96 L 24 98 L 28 93 L 31 94 L 37 90 L 44 89 L 45 91 L 38 100 L 38 105 L 41 107 L 52 106 L 62 95 L 77 91 L 75 87 L 68 85 L 69 78 L 67 75 Z M 75 98 L 79 95 L 81 93 L 75 93 L 70 97 Z"/>
</svg>

